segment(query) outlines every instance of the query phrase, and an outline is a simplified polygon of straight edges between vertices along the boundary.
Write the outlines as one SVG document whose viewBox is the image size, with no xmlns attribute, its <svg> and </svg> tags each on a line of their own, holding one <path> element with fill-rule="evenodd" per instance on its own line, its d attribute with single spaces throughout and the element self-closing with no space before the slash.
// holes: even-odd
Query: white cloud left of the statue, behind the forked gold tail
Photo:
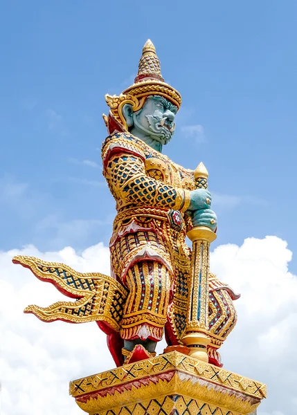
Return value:
<svg viewBox="0 0 297 415">
<path fill-rule="evenodd" d="M 46 306 L 65 297 L 12 265 L 19 253 L 65 262 L 82 272 L 109 273 L 108 248 L 100 243 L 77 255 L 72 248 L 42 253 L 28 246 L 0 254 L 1 415 L 80 415 L 68 393 L 69 381 L 114 367 L 105 335 L 96 323 L 44 324 L 24 315 L 28 304 Z"/>
</svg>

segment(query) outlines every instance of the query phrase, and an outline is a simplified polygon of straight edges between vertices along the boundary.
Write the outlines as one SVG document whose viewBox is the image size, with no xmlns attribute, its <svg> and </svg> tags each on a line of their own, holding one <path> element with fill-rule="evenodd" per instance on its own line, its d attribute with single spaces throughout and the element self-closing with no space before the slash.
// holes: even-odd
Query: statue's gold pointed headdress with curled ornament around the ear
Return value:
<svg viewBox="0 0 297 415">
<path fill-rule="evenodd" d="M 143 46 L 134 84 L 125 89 L 120 95 L 105 95 L 110 112 L 109 118 L 107 116 L 103 116 L 103 118 L 109 133 L 118 129 L 118 127 L 127 129 L 122 111 L 125 104 L 131 104 L 133 111 L 138 111 L 143 107 L 149 95 L 161 95 L 176 105 L 177 109 L 181 106 L 180 93 L 163 80 L 159 57 L 156 55 L 156 49 L 150 39 Z"/>
</svg>

